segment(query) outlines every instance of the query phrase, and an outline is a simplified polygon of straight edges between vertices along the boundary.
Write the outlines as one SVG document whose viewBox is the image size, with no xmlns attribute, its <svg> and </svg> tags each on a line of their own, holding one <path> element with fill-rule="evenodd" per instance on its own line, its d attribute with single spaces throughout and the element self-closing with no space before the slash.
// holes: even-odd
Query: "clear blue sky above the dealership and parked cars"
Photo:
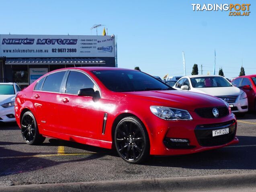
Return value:
<svg viewBox="0 0 256 192">
<path fill-rule="evenodd" d="M 192 3 L 250 3 L 251 13 L 194 12 Z M 216 49 L 216 73 L 222 67 L 230 78 L 238 76 L 242 59 L 246 74 L 256 74 L 255 15 L 252 0 L 1 0 L 0 34 L 90 35 L 92 25 L 105 24 L 118 37 L 119 67 L 139 66 L 161 78 L 183 75 L 184 51 L 187 75 L 195 63 L 212 74 Z"/>
</svg>

